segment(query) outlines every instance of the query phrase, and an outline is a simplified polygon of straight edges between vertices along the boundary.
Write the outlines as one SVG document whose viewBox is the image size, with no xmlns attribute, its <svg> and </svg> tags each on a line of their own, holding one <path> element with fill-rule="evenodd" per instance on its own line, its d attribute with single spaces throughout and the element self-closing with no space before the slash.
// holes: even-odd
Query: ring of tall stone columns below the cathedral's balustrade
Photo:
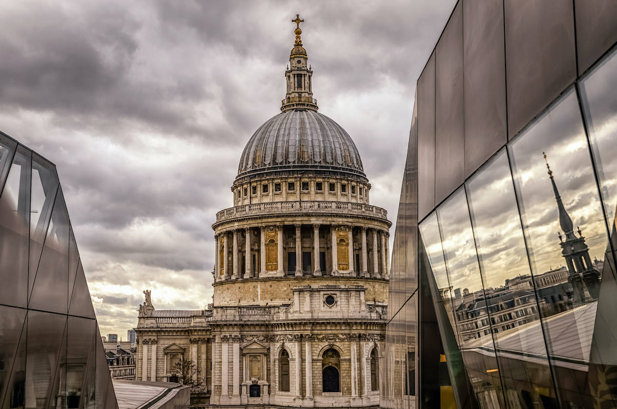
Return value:
<svg viewBox="0 0 617 409">
<path fill-rule="evenodd" d="M 284 245 L 282 225 L 244 227 L 243 229 L 227 230 L 215 235 L 217 248 L 215 253 L 216 280 L 250 279 L 257 276 L 283 276 L 285 274 L 321 276 L 326 273 L 335 276 L 355 275 L 360 277 L 387 278 L 389 256 L 389 232 L 387 230 L 365 226 L 313 224 L 313 240 L 309 261 L 312 265 L 310 266 L 310 271 L 304 271 L 303 267 L 306 267 L 307 263 L 303 253 L 308 253 L 306 250 L 309 249 L 306 242 L 304 247 L 302 245 L 303 227 L 304 229 L 308 228 L 308 226 L 302 224 L 294 225 L 293 247 Z M 359 253 L 358 259 L 355 258 L 354 228 L 357 231 L 359 230 L 358 235 L 360 236 L 360 245 L 357 249 Z M 259 229 L 259 234 L 256 237 L 259 240 L 259 246 L 254 246 L 252 243 L 252 240 L 254 240 L 254 229 Z M 325 233 L 325 242 L 320 238 L 320 231 Z M 367 235 L 371 238 L 370 249 Z M 239 247 L 241 237 L 244 237 L 244 268 L 241 268 L 242 253 Z M 358 240 L 357 236 L 355 240 Z M 275 245 L 276 263 L 274 263 L 274 254 L 269 253 L 269 251 L 274 251 L 273 246 Z M 302 251 L 303 249 L 305 250 L 304 252 Z M 295 251 L 296 266 L 292 268 L 290 261 L 287 271 L 285 271 L 284 256 L 286 253 L 291 253 L 290 250 Z M 329 254 L 326 256 L 326 253 Z M 252 256 L 255 256 L 255 263 Z M 371 259 L 370 266 L 369 258 Z M 329 259 L 329 263 L 326 264 L 325 259 Z M 305 265 L 303 266 L 303 264 Z"/>
</svg>

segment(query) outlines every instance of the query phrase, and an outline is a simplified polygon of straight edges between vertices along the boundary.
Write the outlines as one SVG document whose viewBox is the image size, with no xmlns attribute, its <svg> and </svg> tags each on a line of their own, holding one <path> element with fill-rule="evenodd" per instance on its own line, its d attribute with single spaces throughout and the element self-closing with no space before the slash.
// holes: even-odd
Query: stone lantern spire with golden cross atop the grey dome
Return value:
<svg viewBox="0 0 617 409">
<path fill-rule="evenodd" d="M 296 14 L 296 18 L 291 20 L 296 23 L 296 41 L 294 48 L 289 54 L 289 66 L 285 71 L 287 81 L 287 92 L 285 99 L 281 101 L 281 111 L 289 111 L 291 109 L 312 109 L 317 111 L 317 100 L 313 99 L 313 85 L 311 77 L 313 71 L 308 65 L 307 51 L 302 46 L 302 29 L 300 23 L 304 20 L 300 19 L 300 15 Z"/>
</svg>

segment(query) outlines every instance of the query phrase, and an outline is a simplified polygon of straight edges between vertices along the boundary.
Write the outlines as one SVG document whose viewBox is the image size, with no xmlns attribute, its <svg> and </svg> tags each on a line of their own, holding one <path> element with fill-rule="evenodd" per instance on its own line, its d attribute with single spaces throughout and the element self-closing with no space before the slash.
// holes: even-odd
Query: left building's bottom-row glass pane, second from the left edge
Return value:
<svg viewBox="0 0 617 409">
<path fill-rule="evenodd" d="M 67 316 L 28 312 L 28 359 L 26 362 L 27 408 L 46 408 L 54 385 Z"/>
</svg>

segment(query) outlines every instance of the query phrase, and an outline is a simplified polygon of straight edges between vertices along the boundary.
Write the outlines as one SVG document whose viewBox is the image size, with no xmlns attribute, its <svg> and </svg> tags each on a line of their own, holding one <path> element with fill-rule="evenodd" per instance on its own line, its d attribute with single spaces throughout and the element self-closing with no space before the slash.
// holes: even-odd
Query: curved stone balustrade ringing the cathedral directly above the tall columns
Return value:
<svg viewBox="0 0 617 409">
<path fill-rule="evenodd" d="M 347 201 L 273 201 L 268 203 L 254 203 L 223 209 L 217 213 L 217 223 L 241 219 L 252 216 L 289 213 L 305 214 L 349 214 L 350 216 L 371 216 L 387 221 L 386 209 L 366 203 L 352 203 Z"/>
</svg>

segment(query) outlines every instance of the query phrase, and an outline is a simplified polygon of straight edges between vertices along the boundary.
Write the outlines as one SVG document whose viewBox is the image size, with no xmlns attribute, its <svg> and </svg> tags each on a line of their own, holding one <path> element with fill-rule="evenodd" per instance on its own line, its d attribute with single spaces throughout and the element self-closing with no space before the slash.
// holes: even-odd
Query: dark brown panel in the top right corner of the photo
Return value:
<svg viewBox="0 0 617 409">
<path fill-rule="evenodd" d="M 617 2 L 574 0 L 579 74 L 617 41 Z"/>
</svg>

